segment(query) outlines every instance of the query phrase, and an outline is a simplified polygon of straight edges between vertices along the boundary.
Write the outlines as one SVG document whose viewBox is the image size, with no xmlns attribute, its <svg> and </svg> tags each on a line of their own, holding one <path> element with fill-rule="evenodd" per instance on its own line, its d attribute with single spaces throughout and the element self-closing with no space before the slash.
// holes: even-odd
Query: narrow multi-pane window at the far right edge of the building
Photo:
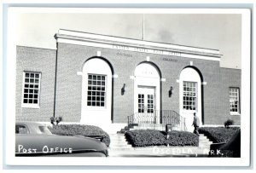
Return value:
<svg viewBox="0 0 256 173">
<path fill-rule="evenodd" d="M 230 87 L 230 113 L 239 113 L 239 89 Z"/>
</svg>

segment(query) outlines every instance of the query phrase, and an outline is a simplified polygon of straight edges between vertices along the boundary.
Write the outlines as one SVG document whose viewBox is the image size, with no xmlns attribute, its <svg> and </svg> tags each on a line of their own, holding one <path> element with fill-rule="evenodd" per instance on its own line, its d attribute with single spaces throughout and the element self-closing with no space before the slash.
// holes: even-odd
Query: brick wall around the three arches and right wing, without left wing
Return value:
<svg viewBox="0 0 256 173">
<path fill-rule="evenodd" d="M 56 116 L 63 116 L 67 121 L 79 121 L 81 114 L 82 77 L 77 75 L 81 72 L 84 62 L 90 57 L 96 56 L 97 51 L 102 52 L 102 57 L 106 58 L 113 66 L 113 73 L 118 78 L 113 78 L 113 122 L 125 123 L 127 116 L 133 114 L 134 85 L 130 76 L 134 75 L 136 66 L 146 61 L 150 61 L 158 66 L 161 78 L 166 78 L 166 82 L 161 82 L 161 108 L 171 109 L 179 112 L 179 74 L 184 67 L 189 66 L 193 61 L 202 74 L 203 80 L 207 82 L 203 86 L 203 112 L 204 124 L 223 124 L 229 116 L 229 88 L 232 81 L 228 81 L 233 72 L 219 67 L 218 61 L 206 61 L 189 59 L 183 57 L 152 55 L 147 53 L 130 52 L 116 49 L 102 49 L 72 45 L 66 43 L 58 44 L 58 69 L 57 69 L 57 91 L 56 91 Z M 164 58 L 172 61 L 164 61 Z M 226 78 L 226 79 L 224 79 Z M 237 84 L 241 83 L 239 75 L 235 75 Z M 225 82 L 226 81 L 226 82 Z M 125 95 L 121 95 L 123 84 L 127 85 Z M 168 96 L 170 87 L 174 88 L 172 97 Z M 238 121 L 237 121 L 238 123 Z"/>
</svg>

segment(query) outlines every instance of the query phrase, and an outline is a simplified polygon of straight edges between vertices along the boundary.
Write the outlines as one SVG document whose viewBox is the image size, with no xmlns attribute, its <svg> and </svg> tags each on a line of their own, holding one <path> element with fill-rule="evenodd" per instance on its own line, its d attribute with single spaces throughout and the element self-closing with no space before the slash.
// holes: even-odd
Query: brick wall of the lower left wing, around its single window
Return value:
<svg viewBox="0 0 256 173">
<path fill-rule="evenodd" d="M 54 111 L 56 50 L 17 46 L 16 120 L 49 121 Z M 40 108 L 21 107 L 23 72 L 41 72 Z"/>
</svg>

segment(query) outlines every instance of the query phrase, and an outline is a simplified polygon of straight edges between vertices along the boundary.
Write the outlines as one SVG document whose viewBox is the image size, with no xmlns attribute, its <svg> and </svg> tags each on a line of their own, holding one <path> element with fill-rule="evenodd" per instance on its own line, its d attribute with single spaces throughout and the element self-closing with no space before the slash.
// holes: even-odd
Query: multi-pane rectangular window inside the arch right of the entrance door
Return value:
<svg viewBox="0 0 256 173">
<path fill-rule="evenodd" d="M 195 110 L 196 107 L 196 83 L 183 82 L 183 109 Z"/>
</svg>

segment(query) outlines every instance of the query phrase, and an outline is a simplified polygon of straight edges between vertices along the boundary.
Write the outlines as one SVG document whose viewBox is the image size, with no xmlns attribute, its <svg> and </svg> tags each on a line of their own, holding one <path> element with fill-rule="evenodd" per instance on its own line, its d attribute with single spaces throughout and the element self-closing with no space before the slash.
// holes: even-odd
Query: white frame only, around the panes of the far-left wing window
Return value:
<svg viewBox="0 0 256 173">
<path fill-rule="evenodd" d="M 24 103 L 24 89 L 25 89 L 25 78 L 26 78 L 26 73 L 34 73 L 34 74 L 39 74 L 39 81 L 38 81 L 38 103 Z M 41 72 L 30 72 L 30 71 L 24 71 L 23 72 L 23 78 L 22 78 L 22 95 L 21 95 L 21 107 L 26 107 L 26 108 L 40 108 L 40 92 L 41 92 Z M 34 89 L 34 88 L 33 88 Z"/>
</svg>

